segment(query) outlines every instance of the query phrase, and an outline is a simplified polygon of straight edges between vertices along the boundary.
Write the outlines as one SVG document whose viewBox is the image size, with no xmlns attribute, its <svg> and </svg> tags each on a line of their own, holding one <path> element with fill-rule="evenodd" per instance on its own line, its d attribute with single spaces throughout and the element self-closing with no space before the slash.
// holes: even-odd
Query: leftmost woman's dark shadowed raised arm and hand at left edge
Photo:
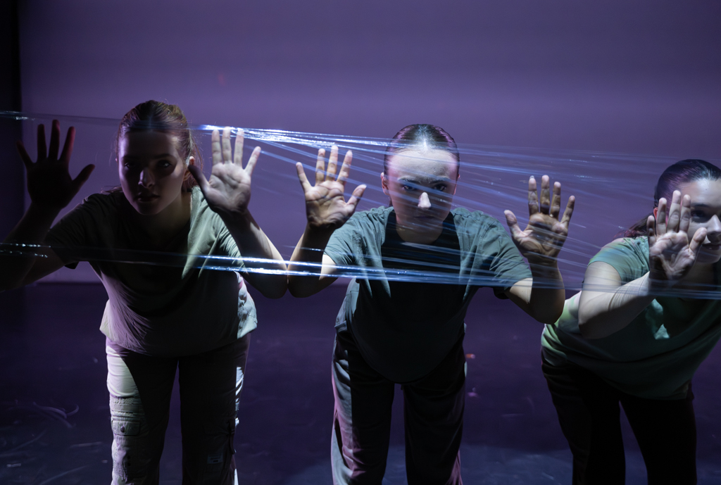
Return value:
<svg viewBox="0 0 721 485">
<path fill-rule="evenodd" d="M 58 158 L 60 123 L 53 120 L 49 148 L 45 146 L 45 126 L 39 125 L 35 163 L 30 159 L 22 142 L 17 142 L 17 151 L 27 172 L 30 207 L 5 238 L 0 249 L 0 290 L 27 285 L 63 267 L 63 261 L 52 249 L 32 249 L 27 248 L 27 245 L 43 243 L 58 213 L 75 197 L 95 168 L 94 165 L 88 165 L 77 177 L 70 177 L 68 164 L 74 140 L 75 128 L 71 127 Z M 17 244 L 26 246 L 18 247 Z"/>
</svg>

